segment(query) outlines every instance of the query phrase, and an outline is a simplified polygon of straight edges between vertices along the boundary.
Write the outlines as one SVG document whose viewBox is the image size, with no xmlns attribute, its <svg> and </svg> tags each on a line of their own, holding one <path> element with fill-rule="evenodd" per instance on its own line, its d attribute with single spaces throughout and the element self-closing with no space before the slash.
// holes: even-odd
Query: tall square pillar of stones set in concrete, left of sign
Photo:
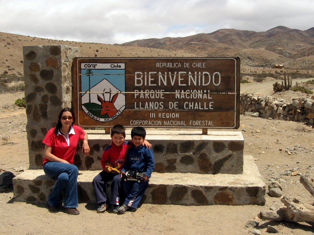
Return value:
<svg viewBox="0 0 314 235">
<path fill-rule="evenodd" d="M 72 61 L 77 47 L 24 46 L 24 82 L 30 169 L 41 169 L 42 140 L 64 107 L 72 107 Z"/>
</svg>

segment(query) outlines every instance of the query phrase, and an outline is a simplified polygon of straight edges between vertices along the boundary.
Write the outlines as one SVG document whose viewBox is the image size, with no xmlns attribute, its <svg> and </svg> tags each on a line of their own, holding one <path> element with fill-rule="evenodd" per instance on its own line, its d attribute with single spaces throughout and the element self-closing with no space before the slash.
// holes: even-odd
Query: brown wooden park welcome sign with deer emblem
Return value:
<svg viewBox="0 0 314 235">
<path fill-rule="evenodd" d="M 240 58 L 75 58 L 83 127 L 239 128 Z"/>
</svg>

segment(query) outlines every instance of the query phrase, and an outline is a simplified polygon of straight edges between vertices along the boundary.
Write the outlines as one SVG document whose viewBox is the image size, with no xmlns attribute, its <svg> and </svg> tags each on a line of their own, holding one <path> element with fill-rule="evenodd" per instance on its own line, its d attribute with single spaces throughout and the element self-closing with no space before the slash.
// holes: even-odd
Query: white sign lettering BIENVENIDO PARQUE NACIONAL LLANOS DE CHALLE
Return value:
<svg viewBox="0 0 314 235">
<path fill-rule="evenodd" d="M 221 75 L 215 72 L 213 76 L 208 72 L 135 72 L 134 76 L 135 86 L 167 86 L 167 84 L 174 86 L 208 86 L 211 82 L 215 86 L 219 86 L 221 82 Z M 149 99 L 160 98 L 164 99 L 162 92 L 165 90 L 135 90 L 134 98 Z M 209 90 L 176 90 L 176 99 L 212 99 Z M 139 97 L 138 97 L 139 96 Z M 169 102 L 169 106 L 165 107 L 164 102 L 135 102 L 135 109 L 179 109 L 178 102 Z M 206 110 L 214 109 L 213 102 L 184 102 L 183 109 L 186 110 Z"/>
</svg>

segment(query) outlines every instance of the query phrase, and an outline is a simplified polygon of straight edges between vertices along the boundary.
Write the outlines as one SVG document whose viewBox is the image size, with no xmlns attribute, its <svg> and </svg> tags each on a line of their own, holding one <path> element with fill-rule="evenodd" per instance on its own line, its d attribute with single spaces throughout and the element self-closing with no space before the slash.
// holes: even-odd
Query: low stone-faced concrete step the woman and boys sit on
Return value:
<svg viewBox="0 0 314 235">
<path fill-rule="evenodd" d="M 80 203 L 95 203 L 92 180 L 99 172 L 79 171 Z M 46 203 L 54 183 L 43 170 L 26 170 L 13 179 L 14 198 L 16 201 Z M 110 192 L 109 188 L 107 192 Z M 154 172 L 142 201 L 176 205 L 264 205 L 265 191 L 265 183 L 252 155 L 244 155 L 243 174 Z"/>
</svg>

